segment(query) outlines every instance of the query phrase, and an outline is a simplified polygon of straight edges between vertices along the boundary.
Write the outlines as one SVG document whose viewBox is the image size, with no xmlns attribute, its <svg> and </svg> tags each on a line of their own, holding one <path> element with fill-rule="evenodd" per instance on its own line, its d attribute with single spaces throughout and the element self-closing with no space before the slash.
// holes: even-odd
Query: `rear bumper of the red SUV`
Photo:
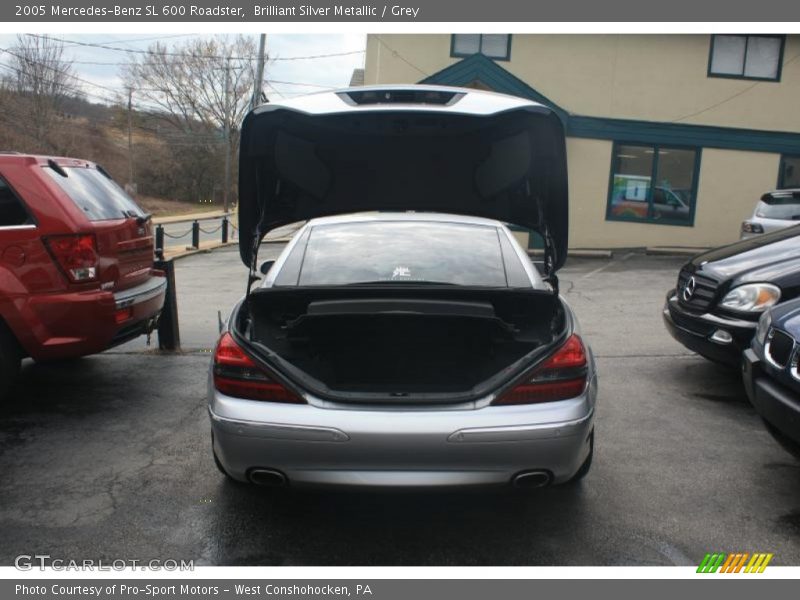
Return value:
<svg viewBox="0 0 800 600">
<path fill-rule="evenodd" d="M 92 290 L 29 296 L 19 304 L 17 332 L 36 360 L 101 352 L 152 329 L 164 305 L 167 280 L 154 272 L 144 283 L 117 294 Z M 117 313 L 126 318 L 117 321 Z"/>
</svg>

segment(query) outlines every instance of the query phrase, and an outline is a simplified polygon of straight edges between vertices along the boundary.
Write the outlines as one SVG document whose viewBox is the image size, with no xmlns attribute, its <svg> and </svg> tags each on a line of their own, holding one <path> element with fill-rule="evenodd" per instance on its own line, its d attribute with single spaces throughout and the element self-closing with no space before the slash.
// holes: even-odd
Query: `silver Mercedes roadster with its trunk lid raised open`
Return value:
<svg viewBox="0 0 800 600">
<path fill-rule="evenodd" d="M 558 293 L 566 159 L 550 109 L 428 86 L 318 94 L 255 109 L 239 171 L 240 253 L 264 276 L 209 374 L 225 475 L 373 487 L 586 475 L 597 378 Z M 263 235 L 299 220 L 257 268 Z M 504 223 L 541 236 L 541 273 Z"/>
</svg>

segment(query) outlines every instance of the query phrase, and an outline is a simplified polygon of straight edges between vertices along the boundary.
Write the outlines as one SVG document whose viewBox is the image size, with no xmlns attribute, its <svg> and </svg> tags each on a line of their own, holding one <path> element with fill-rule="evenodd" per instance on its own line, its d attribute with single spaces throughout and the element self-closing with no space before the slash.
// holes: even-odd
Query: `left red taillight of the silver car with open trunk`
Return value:
<svg viewBox="0 0 800 600">
<path fill-rule="evenodd" d="M 214 387 L 236 398 L 305 404 L 305 400 L 256 365 L 228 332 L 222 335 L 214 351 Z"/>
</svg>

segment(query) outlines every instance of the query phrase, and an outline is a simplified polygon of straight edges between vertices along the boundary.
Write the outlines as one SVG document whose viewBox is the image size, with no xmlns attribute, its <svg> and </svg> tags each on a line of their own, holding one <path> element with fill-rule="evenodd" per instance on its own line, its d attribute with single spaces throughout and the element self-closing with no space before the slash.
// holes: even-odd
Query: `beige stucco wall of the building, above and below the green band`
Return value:
<svg viewBox="0 0 800 600">
<path fill-rule="evenodd" d="M 708 35 L 515 34 L 511 60 L 498 64 L 580 115 L 800 132 L 800 36 L 787 37 L 780 83 L 708 77 L 709 44 Z M 365 83 L 416 82 L 458 60 L 450 35 L 370 35 Z M 680 227 L 606 221 L 611 150 L 610 141 L 567 140 L 572 248 L 734 241 L 756 200 L 775 186 L 780 161 L 704 148 L 694 227 Z"/>
</svg>

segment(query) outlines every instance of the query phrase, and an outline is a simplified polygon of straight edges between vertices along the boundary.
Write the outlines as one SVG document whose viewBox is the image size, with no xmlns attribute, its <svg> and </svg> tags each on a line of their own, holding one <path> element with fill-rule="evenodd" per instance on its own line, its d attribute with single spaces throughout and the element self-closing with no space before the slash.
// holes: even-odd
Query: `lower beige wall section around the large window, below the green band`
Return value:
<svg viewBox="0 0 800 600">
<path fill-rule="evenodd" d="M 606 221 L 612 143 L 569 138 L 570 247 L 703 247 L 738 239 L 742 220 L 775 186 L 780 157 L 705 148 L 694 227 Z"/>
</svg>

